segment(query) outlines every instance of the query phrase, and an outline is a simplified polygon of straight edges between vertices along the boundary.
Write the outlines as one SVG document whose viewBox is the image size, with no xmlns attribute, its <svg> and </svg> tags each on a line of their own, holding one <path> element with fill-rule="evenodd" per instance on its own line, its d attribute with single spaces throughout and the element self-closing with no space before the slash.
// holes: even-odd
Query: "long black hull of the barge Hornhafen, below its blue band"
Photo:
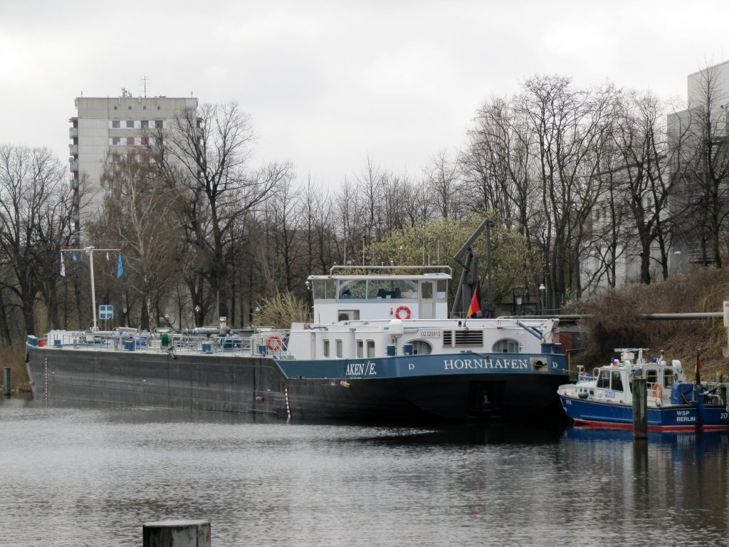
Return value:
<svg viewBox="0 0 729 547">
<path fill-rule="evenodd" d="M 545 373 L 286 379 L 269 357 L 34 347 L 28 374 L 34 397 L 50 402 L 390 422 L 558 416 L 556 391 L 565 382 Z"/>
</svg>

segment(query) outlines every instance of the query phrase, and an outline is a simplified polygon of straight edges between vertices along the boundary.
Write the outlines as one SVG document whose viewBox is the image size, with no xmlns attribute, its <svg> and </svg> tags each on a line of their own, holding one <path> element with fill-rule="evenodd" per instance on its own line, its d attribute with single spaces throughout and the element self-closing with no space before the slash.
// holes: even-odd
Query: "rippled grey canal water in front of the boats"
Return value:
<svg viewBox="0 0 729 547">
<path fill-rule="evenodd" d="M 9 546 L 729 545 L 729 436 L 383 427 L 0 401 Z"/>
</svg>

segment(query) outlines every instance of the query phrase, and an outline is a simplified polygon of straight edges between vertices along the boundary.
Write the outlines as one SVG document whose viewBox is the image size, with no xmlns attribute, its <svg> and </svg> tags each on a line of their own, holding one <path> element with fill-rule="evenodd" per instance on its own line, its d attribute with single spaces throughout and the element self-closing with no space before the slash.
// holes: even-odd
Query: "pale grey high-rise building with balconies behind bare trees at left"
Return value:
<svg viewBox="0 0 729 547">
<path fill-rule="evenodd" d="M 133 97 L 122 88 L 118 97 L 77 97 L 77 115 L 69 128 L 71 187 L 74 190 L 73 238 L 80 237 L 79 182 L 87 179 L 95 193 L 92 203 L 101 203 L 104 188 L 101 175 L 109 154 L 126 154 L 133 147 L 146 146 L 150 132 L 171 127 L 176 116 L 198 108 L 194 97 Z"/>
</svg>

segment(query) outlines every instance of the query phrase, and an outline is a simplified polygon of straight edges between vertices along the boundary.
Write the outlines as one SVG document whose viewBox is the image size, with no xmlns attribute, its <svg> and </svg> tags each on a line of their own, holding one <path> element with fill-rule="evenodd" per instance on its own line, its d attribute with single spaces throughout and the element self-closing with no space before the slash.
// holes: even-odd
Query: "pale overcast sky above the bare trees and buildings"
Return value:
<svg viewBox="0 0 729 547">
<path fill-rule="evenodd" d="M 74 98 L 147 77 L 147 96 L 238 101 L 254 162 L 301 180 L 336 187 L 367 155 L 419 176 L 534 74 L 685 100 L 688 74 L 727 60 L 728 25 L 727 0 L 0 0 L 0 143 L 66 162 Z"/>
</svg>

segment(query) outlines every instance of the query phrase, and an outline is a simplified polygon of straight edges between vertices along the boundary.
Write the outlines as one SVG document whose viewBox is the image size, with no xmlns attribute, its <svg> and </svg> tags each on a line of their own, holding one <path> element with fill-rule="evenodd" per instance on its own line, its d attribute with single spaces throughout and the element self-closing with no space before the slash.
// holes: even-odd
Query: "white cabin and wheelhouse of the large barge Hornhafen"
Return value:
<svg viewBox="0 0 729 547">
<path fill-rule="evenodd" d="M 340 274 L 338 268 L 309 276 L 313 320 L 292 324 L 285 357 L 539 353 L 542 343 L 553 341 L 556 319 L 449 319 L 447 266 L 432 273 L 422 267 L 412 273 L 407 267 L 361 267 L 362 272 Z"/>
</svg>

